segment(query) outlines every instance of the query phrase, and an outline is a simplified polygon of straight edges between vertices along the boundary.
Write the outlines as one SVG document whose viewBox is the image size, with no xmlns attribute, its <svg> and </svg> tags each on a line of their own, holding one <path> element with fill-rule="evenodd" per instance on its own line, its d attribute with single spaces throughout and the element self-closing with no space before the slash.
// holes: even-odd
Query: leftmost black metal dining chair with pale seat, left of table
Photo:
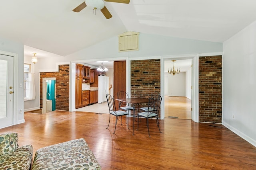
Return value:
<svg viewBox="0 0 256 170">
<path fill-rule="evenodd" d="M 108 109 L 109 109 L 109 121 L 108 121 L 108 127 L 109 127 L 109 123 L 110 123 L 110 115 L 114 115 L 116 116 L 116 123 L 117 123 L 117 118 L 118 117 L 121 117 L 121 125 L 122 125 L 122 116 L 123 115 L 126 115 L 126 118 L 127 118 L 127 115 L 129 114 L 128 112 L 126 111 L 123 111 L 123 110 L 116 110 L 116 105 L 115 105 L 115 100 L 114 98 L 110 95 L 110 94 L 106 94 L 106 98 L 107 98 L 107 102 L 108 102 Z M 129 129 L 129 119 L 127 121 L 127 127 Z M 108 127 L 106 129 L 108 129 Z M 114 133 L 116 131 L 116 125 L 115 125 L 115 130 L 114 130 Z M 114 134 L 113 133 L 113 134 Z"/>
</svg>

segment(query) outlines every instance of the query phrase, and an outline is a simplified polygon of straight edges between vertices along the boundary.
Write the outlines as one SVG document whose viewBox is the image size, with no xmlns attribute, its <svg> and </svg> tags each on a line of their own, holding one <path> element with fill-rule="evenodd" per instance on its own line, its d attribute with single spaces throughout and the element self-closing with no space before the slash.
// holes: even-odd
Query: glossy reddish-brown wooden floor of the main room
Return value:
<svg viewBox="0 0 256 170">
<path fill-rule="evenodd" d="M 222 125 L 164 119 L 160 133 L 152 119 L 149 138 L 145 119 L 132 135 L 132 126 L 129 130 L 120 120 L 112 134 L 114 117 L 106 129 L 108 118 L 108 114 L 86 112 L 25 113 L 26 123 L 0 129 L 0 133 L 18 132 L 19 145 L 32 144 L 34 152 L 84 138 L 102 170 L 256 169 L 256 148 Z"/>
</svg>

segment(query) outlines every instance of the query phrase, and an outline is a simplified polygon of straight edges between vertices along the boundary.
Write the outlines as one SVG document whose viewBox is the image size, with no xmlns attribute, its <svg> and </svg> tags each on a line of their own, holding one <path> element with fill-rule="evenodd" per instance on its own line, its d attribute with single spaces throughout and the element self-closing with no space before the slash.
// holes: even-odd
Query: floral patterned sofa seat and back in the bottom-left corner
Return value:
<svg viewBox="0 0 256 170">
<path fill-rule="evenodd" d="M 0 135 L 0 169 L 30 170 L 32 165 L 33 147 L 19 147 L 18 133 Z"/>
</svg>

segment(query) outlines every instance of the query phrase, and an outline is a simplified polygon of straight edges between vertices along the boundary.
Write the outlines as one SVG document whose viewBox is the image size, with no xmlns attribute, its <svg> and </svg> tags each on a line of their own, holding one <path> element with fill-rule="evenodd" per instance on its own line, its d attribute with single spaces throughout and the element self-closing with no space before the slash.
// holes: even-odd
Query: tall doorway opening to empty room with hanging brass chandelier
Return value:
<svg viewBox="0 0 256 170">
<path fill-rule="evenodd" d="M 192 59 L 166 60 L 164 68 L 164 117 L 192 119 Z"/>
</svg>

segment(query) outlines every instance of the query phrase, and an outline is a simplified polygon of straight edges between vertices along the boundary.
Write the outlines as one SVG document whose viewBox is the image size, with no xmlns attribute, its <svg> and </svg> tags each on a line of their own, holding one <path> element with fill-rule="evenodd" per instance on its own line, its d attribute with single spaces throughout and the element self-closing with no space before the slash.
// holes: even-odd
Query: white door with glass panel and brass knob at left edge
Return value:
<svg viewBox="0 0 256 170">
<path fill-rule="evenodd" d="M 0 54 L 0 125 L 13 124 L 14 57 Z"/>
</svg>

